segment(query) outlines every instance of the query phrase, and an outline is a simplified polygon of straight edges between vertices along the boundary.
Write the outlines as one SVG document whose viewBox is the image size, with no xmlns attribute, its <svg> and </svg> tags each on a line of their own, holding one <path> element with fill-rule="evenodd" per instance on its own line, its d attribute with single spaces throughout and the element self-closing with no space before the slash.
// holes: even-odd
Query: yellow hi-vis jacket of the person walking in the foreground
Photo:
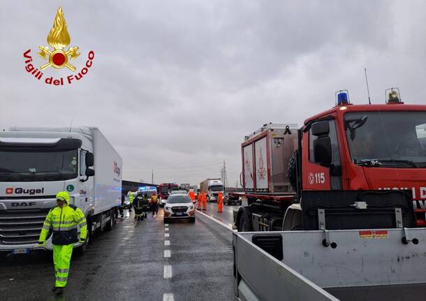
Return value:
<svg viewBox="0 0 426 301">
<path fill-rule="evenodd" d="M 80 226 L 80 239 L 85 239 L 87 235 L 86 216 L 78 207 L 75 205 L 54 207 L 46 216 L 39 241 L 44 242 L 47 234 L 52 230 L 52 244 L 66 245 L 78 242 L 77 226 Z"/>
</svg>

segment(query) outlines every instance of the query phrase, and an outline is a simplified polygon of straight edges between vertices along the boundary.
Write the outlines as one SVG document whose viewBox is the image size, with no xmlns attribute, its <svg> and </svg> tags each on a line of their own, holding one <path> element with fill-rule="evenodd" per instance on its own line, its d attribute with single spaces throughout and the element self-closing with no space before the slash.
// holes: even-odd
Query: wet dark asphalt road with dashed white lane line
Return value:
<svg viewBox="0 0 426 301">
<path fill-rule="evenodd" d="M 1 257 L 0 300 L 237 300 L 231 231 L 202 214 L 194 224 L 165 226 L 161 210 L 117 221 L 84 255 L 73 254 L 62 296 L 51 291 L 51 256 Z"/>
</svg>

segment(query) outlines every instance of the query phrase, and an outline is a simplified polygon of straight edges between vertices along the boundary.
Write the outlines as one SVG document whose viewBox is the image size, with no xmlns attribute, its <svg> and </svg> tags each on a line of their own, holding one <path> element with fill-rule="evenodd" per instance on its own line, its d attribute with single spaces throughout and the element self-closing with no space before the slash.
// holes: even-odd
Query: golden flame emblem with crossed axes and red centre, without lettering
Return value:
<svg viewBox="0 0 426 301">
<path fill-rule="evenodd" d="M 69 59 L 75 59 L 80 53 L 77 52 L 77 46 L 69 47 L 66 51 L 64 50 L 65 47 L 70 45 L 71 38 L 66 29 L 66 22 L 61 6 L 59 6 L 56 17 L 54 18 L 53 27 L 47 35 L 47 43 L 54 50 L 50 51 L 49 47 L 45 46 L 39 47 L 41 52 L 38 52 L 38 55 L 43 59 L 49 60 L 47 64 L 40 67 L 41 70 L 52 66 L 53 68 L 67 67 L 71 71 L 75 71 L 75 67 L 68 62 L 68 57 Z"/>
</svg>

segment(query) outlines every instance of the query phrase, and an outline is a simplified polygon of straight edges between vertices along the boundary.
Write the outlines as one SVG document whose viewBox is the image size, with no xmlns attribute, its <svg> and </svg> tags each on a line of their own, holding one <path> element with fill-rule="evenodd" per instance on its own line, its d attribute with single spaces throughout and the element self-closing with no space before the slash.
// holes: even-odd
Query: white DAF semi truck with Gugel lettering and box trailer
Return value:
<svg viewBox="0 0 426 301">
<path fill-rule="evenodd" d="M 30 253 L 58 191 L 87 218 L 87 243 L 115 225 L 122 158 L 95 127 L 10 128 L 0 133 L 0 251 Z M 75 247 L 85 245 L 76 244 Z"/>
</svg>

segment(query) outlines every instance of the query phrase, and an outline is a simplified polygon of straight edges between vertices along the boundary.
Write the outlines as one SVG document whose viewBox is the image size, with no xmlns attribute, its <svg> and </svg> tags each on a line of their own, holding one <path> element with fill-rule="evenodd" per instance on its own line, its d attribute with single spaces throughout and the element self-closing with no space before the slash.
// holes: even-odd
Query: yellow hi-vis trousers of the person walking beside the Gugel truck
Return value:
<svg viewBox="0 0 426 301">
<path fill-rule="evenodd" d="M 53 245 L 54 273 L 56 275 L 55 286 L 64 288 L 68 280 L 68 272 L 71 264 L 71 254 L 73 254 L 74 244 L 65 246 Z"/>
</svg>

